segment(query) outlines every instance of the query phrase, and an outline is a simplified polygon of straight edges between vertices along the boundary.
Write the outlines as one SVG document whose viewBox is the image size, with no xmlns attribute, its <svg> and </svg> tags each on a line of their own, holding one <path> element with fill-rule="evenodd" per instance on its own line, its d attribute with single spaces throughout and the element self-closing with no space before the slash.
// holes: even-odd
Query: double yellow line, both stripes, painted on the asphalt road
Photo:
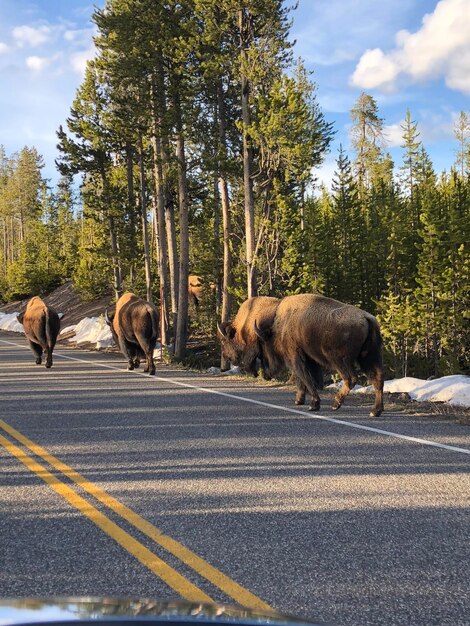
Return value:
<svg viewBox="0 0 470 626">
<path fill-rule="evenodd" d="M 226 595 L 233 598 L 235 602 L 242 606 L 251 608 L 270 610 L 266 603 L 260 598 L 252 594 L 250 591 L 236 583 L 234 580 L 223 574 L 217 568 L 207 563 L 197 554 L 183 546 L 178 541 L 162 533 L 161 530 L 140 517 L 135 511 L 110 496 L 106 491 L 100 489 L 93 483 L 89 482 L 81 474 L 60 461 L 57 457 L 49 454 L 47 450 L 34 443 L 12 426 L 0 420 L 0 429 L 10 435 L 16 442 L 22 444 L 30 450 L 34 455 L 43 459 L 51 467 L 69 478 L 73 483 L 81 487 L 86 493 L 93 496 L 96 500 L 104 504 L 106 507 L 114 511 L 123 520 L 131 524 L 134 528 L 152 539 L 156 544 L 167 550 L 173 556 L 177 557 L 185 565 L 197 572 L 215 587 L 218 587 Z M 106 515 L 95 508 L 88 500 L 80 496 L 74 489 L 59 480 L 57 476 L 49 472 L 46 467 L 38 463 L 33 457 L 27 454 L 22 448 L 12 443 L 9 439 L 0 435 L 0 444 L 13 456 L 15 456 L 23 465 L 39 478 L 44 480 L 54 491 L 67 500 L 72 506 L 78 509 L 83 515 L 96 524 L 107 535 L 112 537 L 127 552 L 132 554 L 151 572 L 161 578 L 168 586 L 176 591 L 180 596 L 187 600 L 197 602 L 212 602 L 212 598 L 196 585 L 191 583 L 187 578 L 182 576 L 174 568 L 170 567 L 165 561 L 156 556 L 151 550 L 146 548 L 142 543 L 134 539 L 132 535 L 124 531 L 117 524 L 111 521 Z"/>
</svg>

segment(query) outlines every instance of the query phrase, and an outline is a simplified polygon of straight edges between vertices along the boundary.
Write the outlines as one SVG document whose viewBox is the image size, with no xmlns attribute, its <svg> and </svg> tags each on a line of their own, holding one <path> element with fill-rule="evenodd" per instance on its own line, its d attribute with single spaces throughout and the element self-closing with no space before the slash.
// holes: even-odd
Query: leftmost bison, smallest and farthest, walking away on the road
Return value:
<svg viewBox="0 0 470 626">
<path fill-rule="evenodd" d="M 23 324 L 24 334 L 36 356 L 36 365 L 41 365 L 42 354 L 45 352 L 46 367 L 52 367 L 52 351 L 60 332 L 60 319 L 56 311 L 47 306 L 39 296 L 34 296 L 17 319 Z"/>
</svg>

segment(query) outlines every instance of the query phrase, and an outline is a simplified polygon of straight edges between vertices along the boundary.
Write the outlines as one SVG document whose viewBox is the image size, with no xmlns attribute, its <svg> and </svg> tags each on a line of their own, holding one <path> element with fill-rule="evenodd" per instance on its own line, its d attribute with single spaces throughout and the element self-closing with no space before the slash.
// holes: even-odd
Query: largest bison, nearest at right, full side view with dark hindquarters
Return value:
<svg viewBox="0 0 470 626">
<path fill-rule="evenodd" d="M 304 404 L 308 392 L 310 410 L 320 408 L 317 386 L 321 386 L 321 368 L 326 368 L 343 379 L 333 403 L 333 409 L 339 409 L 357 382 L 357 363 L 375 389 L 370 415 L 378 417 L 383 411 L 382 338 L 370 313 L 317 294 L 287 296 L 274 321 L 257 319 L 254 329 L 261 342 L 265 377 L 291 370 L 298 384 L 296 404 Z"/>
</svg>

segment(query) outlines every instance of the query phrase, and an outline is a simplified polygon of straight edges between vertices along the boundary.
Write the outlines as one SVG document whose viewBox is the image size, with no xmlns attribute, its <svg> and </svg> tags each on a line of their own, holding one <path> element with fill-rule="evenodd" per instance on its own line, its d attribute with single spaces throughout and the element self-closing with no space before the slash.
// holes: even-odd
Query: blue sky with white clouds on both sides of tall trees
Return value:
<svg viewBox="0 0 470 626">
<path fill-rule="evenodd" d="M 52 182 L 55 131 L 93 54 L 93 5 L 104 0 L 0 0 L 0 144 L 36 146 Z M 300 0 L 293 18 L 296 54 L 337 131 L 320 179 L 330 181 L 339 144 L 349 148 L 362 91 L 377 99 L 397 164 L 409 108 L 436 170 L 450 167 L 455 118 L 470 109 L 470 0 Z"/>
</svg>

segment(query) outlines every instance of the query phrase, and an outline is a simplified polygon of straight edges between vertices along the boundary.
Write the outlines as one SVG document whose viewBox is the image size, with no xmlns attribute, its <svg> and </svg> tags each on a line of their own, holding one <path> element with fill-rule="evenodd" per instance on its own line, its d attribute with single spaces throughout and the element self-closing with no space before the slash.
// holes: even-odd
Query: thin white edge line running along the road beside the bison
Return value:
<svg viewBox="0 0 470 626">
<path fill-rule="evenodd" d="M 17 348 L 24 348 L 28 350 L 27 346 L 21 346 L 20 344 L 14 343 L 12 341 L 5 341 L 0 339 L 0 343 L 5 343 L 11 346 L 16 346 Z M 88 361 L 86 359 L 79 359 L 77 357 L 68 356 L 65 354 L 60 354 L 60 352 L 54 352 L 55 356 L 61 357 L 62 359 L 68 359 L 69 361 L 78 361 L 79 363 L 92 363 L 97 365 L 98 367 L 102 367 L 105 369 L 113 370 L 115 372 L 127 373 L 128 370 L 124 370 L 120 367 L 115 367 L 113 365 L 105 365 L 104 363 L 96 363 L 94 361 Z M 467 448 L 458 448 L 457 446 L 450 446 L 445 443 L 437 443 L 436 441 L 429 441 L 428 439 L 420 439 L 418 437 L 410 437 L 409 435 L 401 435 L 400 433 L 393 433 L 388 430 L 383 430 L 381 428 L 373 428 L 372 426 L 365 426 L 363 424 L 354 424 L 352 422 L 346 422 L 344 420 L 335 419 L 334 417 L 328 417 L 326 415 L 319 415 L 318 413 L 300 411 L 299 409 L 292 409 L 290 407 L 279 406 L 277 404 L 270 404 L 269 402 L 263 402 L 262 400 L 253 400 L 252 398 L 245 398 L 244 396 L 238 396 L 231 393 L 226 393 L 225 391 L 217 391 L 216 389 L 208 389 L 207 387 L 198 387 L 197 385 L 190 385 L 189 383 L 183 383 L 179 380 L 174 380 L 172 378 L 161 378 L 160 376 L 151 376 L 145 372 L 137 372 L 133 370 L 133 374 L 137 374 L 139 376 L 145 376 L 146 378 L 150 378 L 152 380 L 158 380 L 163 383 L 172 383 L 173 385 L 177 385 L 179 387 L 186 387 L 187 389 L 196 389 L 197 391 L 204 391 L 205 393 L 211 393 L 216 396 L 222 396 L 224 398 L 231 398 L 232 400 L 241 400 L 242 402 L 250 402 L 251 404 L 257 404 L 258 406 L 264 406 L 268 409 L 276 409 L 278 411 L 285 411 L 287 413 L 292 413 L 294 415 L 299 415 L 304 418 L 316 419 L 324 422 L 330 422 L 331 424 L 338 424 L 340 426 L 348 426 L 349 428 L 356 428 L 358 430 L 365 430 L 371 433 L 376 433 L 378 435 L 386 435 L 387 437 L 395 437 L 396 439 L 404 439 L 405 441 L 411 441 L 413 443 L 419 443 L 425 446 L 431 446 L 433 448 L 441 448 L 443 450 L 450 450 L 451 452 L 461 452 L 462 454 L 470 455 L 470 450 Z"/>
</svg>

